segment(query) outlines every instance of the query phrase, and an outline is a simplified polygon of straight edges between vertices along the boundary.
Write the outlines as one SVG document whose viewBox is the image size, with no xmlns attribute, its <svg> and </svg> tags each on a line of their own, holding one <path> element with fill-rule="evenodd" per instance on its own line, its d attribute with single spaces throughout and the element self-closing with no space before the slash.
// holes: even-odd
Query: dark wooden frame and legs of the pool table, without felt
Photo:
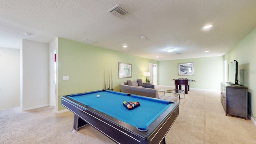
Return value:
<svg viewBox="0 0 256 144">
<path fill-rule="evenodd" d="M 86 105 L 68 96 L 61 97 L 62 105 L 74 113 L 74 130 L 76 132 L 82 126 L 90 124 L 102 134 L 120 144 L 165 144 L 165 136 L 179 115 L 179 105 L 174 104 L 148 126 L 148 131 L 140 132 L 135 126 L 94 108 L 86 107 Z"/>
</svg>

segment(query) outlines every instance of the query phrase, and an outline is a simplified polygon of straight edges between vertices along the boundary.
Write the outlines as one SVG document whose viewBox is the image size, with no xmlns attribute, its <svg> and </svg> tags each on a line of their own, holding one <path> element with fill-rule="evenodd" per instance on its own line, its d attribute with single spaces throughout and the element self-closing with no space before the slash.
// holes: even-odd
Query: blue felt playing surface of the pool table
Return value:
<svg viewBox="0 0 256 144">
<path fill-rule="evenodd" d="M 97 97 L 98 94 L 100 97 Z M 141 130 L 146 130 L 158 116 L 172 105 L 165 100 L 136 95 L 127 96 L 125 93 L 109 90 L 72 94 L 68 97 Z M 124 101 L 140 102 L 140 106 L 128 110 L 123 106 Z"/>
</svg>

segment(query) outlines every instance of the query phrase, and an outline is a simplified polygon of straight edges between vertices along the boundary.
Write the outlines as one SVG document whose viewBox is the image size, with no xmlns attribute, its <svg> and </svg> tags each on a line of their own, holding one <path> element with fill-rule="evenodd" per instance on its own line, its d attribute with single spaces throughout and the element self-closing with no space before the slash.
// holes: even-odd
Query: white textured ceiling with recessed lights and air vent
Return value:
<svg viewBox="0 0 256 144">
<path fill-rule="evenodd" d="M 117 4 L 130 13 L 107 12 Z M 89 38 L 91 45 L 154 60 L 223 56 L 255 27 L 256 0 L 0 1 L 0 46 L 8 48 L 19 48 L 21 39 Z"/>
</svg>

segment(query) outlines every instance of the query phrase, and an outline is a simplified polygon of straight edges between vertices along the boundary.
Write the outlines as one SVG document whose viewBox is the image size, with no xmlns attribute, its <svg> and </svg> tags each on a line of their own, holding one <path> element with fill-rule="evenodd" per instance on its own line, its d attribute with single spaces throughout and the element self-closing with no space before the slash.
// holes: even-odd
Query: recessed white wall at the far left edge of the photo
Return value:
<svg viewBox="0 0 256 144">
<path fill-rule="evenodd" d="M 20 50 L 0 47 L 0 110 L 20 106 Z"/>
</svg>

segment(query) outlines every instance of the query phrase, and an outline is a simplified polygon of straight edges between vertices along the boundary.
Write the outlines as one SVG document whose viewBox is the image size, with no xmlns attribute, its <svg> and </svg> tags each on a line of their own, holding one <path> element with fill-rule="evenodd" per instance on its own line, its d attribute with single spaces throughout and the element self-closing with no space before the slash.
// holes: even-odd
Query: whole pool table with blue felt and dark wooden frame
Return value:
<svg viewBox="0 0 256 144">
<path fill-rule="evenodd" d="M 90 124 L 120 144 L 165 144 L 165 136 L 179 115 L 178 102 L 110 90 L 71 94 L 61 100 L 74 112 L 74 132 Z M 140 106 L 129 110 L 124 101 L 139 102 Z"/>
</svg>

